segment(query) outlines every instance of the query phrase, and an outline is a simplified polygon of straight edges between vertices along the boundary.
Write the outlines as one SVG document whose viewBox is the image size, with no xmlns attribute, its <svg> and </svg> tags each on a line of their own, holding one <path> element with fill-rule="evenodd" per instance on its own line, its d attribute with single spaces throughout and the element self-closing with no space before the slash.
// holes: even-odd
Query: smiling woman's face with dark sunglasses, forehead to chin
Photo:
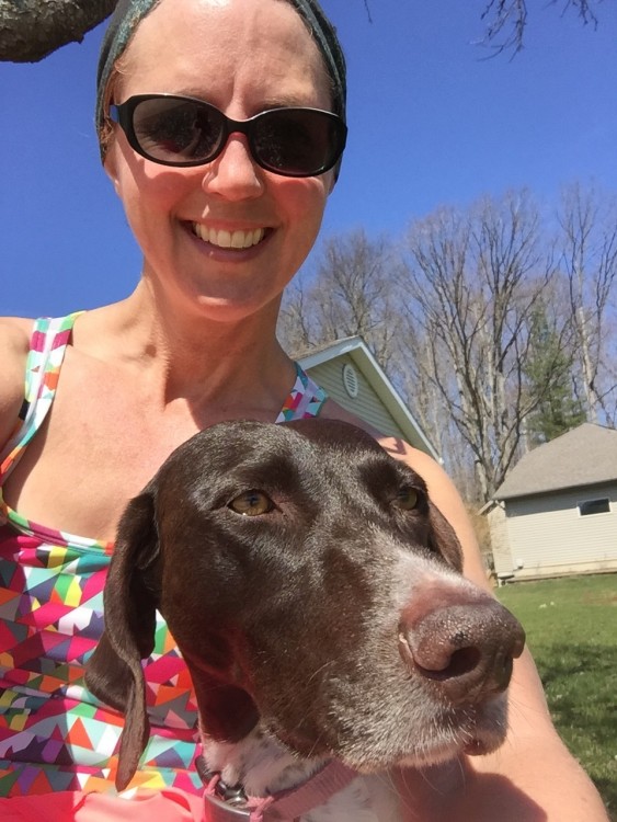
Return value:
<svg viewBox="0 0 617 822">
<path fill-rule="evenodd" d="M 331 82 L 302 20 L 288 3 L 274 8 L 265 16 L 248 3 L 233 10 L 232 26 L 217 24 L 230 14 L 226 4 L 212 5 L 214 25 L 187 11 L 187 33 L 185 16 L 156 4 L 122 73 L 111 70 L 112 91 L 100 92 L 111 93 L 122 125 L 112 122 L 111 142 L 103 138 L 105 169 L 145 252 L 142 283 L 165 310 L 207 316 L 214 306 L 217 320 L 224 309 L 229 319 L 261 320 L 317 237 L 329 169 L 344 146 L 330 122 L 342 135 L 344 124 L 330 111 Z M 228 27 L 235 34 L 221 36 Z"/>
</svg>

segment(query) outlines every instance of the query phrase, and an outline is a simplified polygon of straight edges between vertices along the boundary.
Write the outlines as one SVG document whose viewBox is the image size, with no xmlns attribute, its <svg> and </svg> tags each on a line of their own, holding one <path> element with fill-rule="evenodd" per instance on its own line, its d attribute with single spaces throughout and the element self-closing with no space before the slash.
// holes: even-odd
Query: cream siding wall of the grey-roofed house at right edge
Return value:
<svg viewBox="0 0 617 822">
<path fill-rule="evenodd" d="M 581 516 L 594 499 L 608 499 L 608 513 Z M 617 482 L 506 500 L 505 513 L 517 579 L 617 570 Z"/>
</svg>

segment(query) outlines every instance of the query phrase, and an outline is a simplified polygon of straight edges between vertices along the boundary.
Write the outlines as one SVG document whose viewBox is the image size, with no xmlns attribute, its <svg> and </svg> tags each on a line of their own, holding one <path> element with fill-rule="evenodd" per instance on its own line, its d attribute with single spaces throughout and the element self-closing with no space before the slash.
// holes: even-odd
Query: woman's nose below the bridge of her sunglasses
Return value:
<svg viewBox="0 0 617 822">
<path fill-rule="evenodd" d="M 204 173 L 203 187 L 226 199 L 250 199 L 260 196 L 264 183 L 261 169 L 251 156 L 247 138 L 231 134 L 220 155 Z"/>
</svg>

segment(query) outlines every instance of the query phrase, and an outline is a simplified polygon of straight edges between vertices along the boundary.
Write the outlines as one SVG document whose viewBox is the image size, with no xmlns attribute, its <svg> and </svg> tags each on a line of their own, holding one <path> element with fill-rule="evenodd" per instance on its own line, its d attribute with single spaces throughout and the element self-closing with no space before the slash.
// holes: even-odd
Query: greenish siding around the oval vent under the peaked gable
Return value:
<svg viewBox="0 0 617 822">
<path fill-rule="evenodd" d="M 343 368 L 351 365 L 358 377 L 357 397 L 350 397 L 343 384 Z M 362 373 L 357 363 L 349 354 L 330 359 L 308 369 L 311 379 L 344 409 L 373 425 L 382 434 L 405 438 L 402 429 L 384 406 L 377 391 Z"/>
</svg>

